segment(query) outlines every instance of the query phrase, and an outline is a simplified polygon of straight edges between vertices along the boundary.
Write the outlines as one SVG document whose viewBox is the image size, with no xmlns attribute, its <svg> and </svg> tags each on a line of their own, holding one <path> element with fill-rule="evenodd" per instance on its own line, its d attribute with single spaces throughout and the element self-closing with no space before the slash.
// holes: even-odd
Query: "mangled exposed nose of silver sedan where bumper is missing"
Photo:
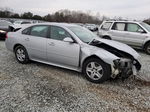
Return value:
<svg viewBox="0 0 150 112">
<path fill-rule="evenodd" d="M 119 76 L 122 79 L 128 78 L 130 75 L 136 75 L 137 71 L 141 69 L 141 64 L 137 60 L 131 60 L 126 58 L 121 58 L 114 61 L 115 69 L 119 72 Z"/>
</svg>

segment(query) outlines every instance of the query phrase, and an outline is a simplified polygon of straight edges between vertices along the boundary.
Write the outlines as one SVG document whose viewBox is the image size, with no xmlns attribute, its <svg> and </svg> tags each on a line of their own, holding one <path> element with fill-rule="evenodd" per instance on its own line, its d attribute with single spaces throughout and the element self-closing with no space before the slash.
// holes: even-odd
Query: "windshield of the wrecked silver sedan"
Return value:
<svg viewBox="0 0 150 112">
<path fill-rule="evenodd" d="M 82 42 L 89 43 L 95 37 L 97 37 L 94 33 L 89 31 L 88 29 L 80 26 L 71 26 L 68 27 Z"/>
</svg>

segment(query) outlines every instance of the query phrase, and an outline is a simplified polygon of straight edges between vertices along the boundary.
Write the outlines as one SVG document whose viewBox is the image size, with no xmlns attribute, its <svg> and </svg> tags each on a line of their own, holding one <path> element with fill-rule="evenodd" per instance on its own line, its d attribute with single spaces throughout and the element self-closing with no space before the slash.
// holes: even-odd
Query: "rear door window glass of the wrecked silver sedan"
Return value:
<svg viewBox="0 0 150 112">
<path fill-rule="evenodd" d="M 33 26 L 30 31 L 30 35 L 37 37 L 46 37 L 48 32 L 48 26 Z"/>
</svg>

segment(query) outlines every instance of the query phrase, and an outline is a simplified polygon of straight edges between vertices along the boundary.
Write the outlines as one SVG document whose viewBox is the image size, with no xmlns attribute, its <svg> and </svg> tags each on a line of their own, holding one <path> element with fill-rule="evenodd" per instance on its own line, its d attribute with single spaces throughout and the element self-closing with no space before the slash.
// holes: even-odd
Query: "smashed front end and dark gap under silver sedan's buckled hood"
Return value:
<svg viewBox="0 0 150 112">
<path fill-rule="evenodd" d="M 130 75 L 137 75 L 137 72 L 141 69 L 141 64 L 132 54 L 127 53 L 126 51 L 119 50 L 113 45 L 110 46 L 107 43 L 94 40 L 90 45 L 103 48 L 108 52 L 119 57 L 117 60 L 113 60 L 114 65 L 111 65 L 112 68 L 112 78 L 121 77 L 123 79 L 128 78 Z"/>
</svg>

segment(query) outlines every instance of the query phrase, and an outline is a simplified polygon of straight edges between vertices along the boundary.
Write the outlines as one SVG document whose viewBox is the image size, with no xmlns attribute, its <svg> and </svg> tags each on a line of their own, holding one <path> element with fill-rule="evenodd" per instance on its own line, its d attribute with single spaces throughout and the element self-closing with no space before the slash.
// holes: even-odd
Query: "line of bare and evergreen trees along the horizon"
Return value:
<svg viewBox="0 0 150 112">
<path fill-rule="evenodd" d="M 46 16 L 34 15 L 31 12 L 23 14 L 14 13 L 10 10 L 0 10 L 1 18 L 34 19 L 49 22 L 67 22 L 67 23 L 95 23 L 100 24 L 101 20 L 97 16 L 81 11 L 60 10 Z"/>
</svg>

